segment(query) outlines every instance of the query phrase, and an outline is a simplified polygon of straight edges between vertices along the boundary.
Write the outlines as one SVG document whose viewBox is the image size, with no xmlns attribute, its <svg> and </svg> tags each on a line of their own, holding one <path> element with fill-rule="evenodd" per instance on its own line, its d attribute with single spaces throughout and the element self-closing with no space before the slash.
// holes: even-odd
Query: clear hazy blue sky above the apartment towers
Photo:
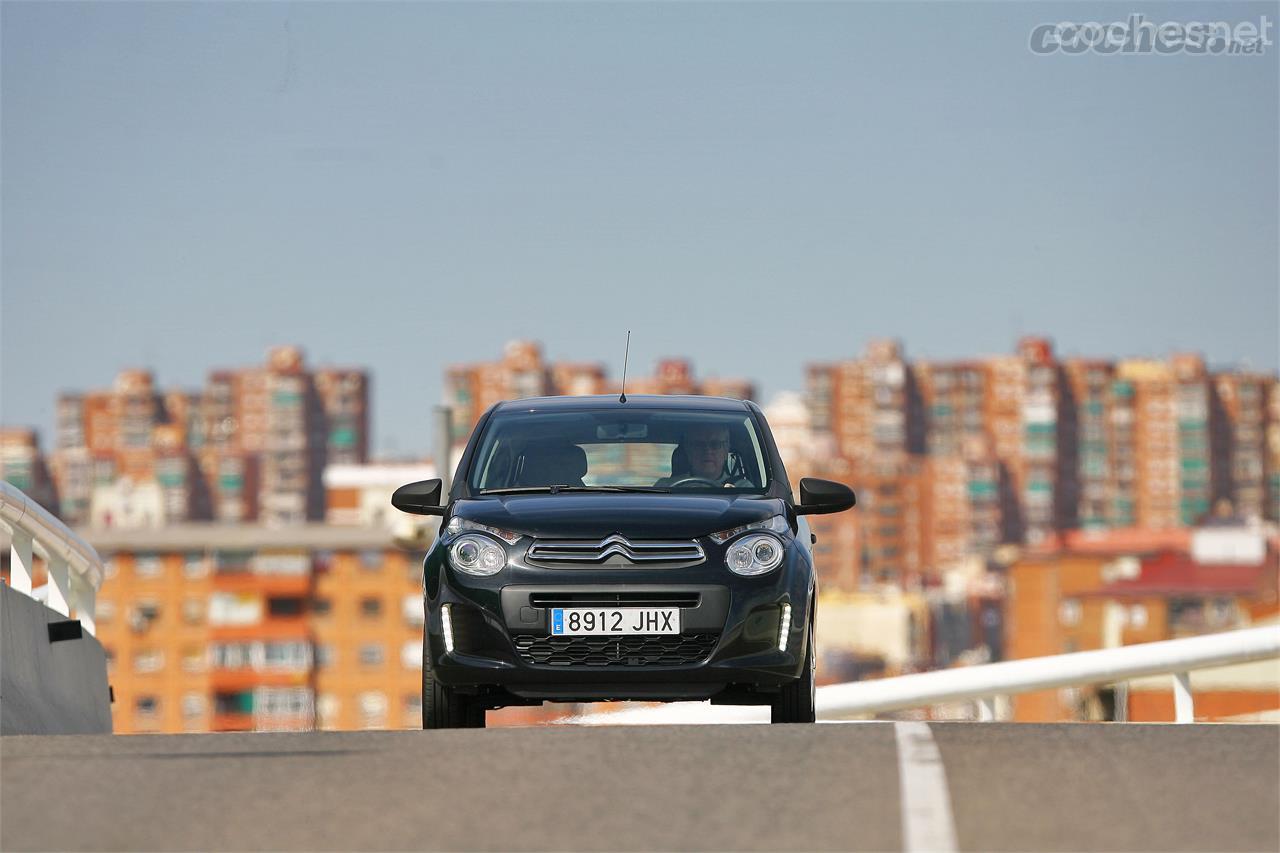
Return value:
<svg viewBox="0 0 1280 853">
<path fill-rule="evenodd" d="M 301 343 L 383 452 L 447 364 L 1280 362 L 1277 56 L 1034 56 L 1276 4 L 0 6 L 0 420 Z"/>
</svg>

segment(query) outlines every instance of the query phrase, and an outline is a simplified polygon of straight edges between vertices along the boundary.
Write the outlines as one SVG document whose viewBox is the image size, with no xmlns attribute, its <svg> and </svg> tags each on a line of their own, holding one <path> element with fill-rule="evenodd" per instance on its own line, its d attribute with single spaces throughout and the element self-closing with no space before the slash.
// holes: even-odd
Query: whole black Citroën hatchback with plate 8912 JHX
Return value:
<svg viewBox="0 0 1280 853">
<path fill-rule="evenodd" d="M 480 727 L 543 702 L 710 699 L 814 719 L 817 581 L 801 517 L 854 505 L 800 482 L 795 501 L 759 406 L 718 397 L 545 397 L 480 419 L 426 555 L 422 722 Z"/>
</svg>

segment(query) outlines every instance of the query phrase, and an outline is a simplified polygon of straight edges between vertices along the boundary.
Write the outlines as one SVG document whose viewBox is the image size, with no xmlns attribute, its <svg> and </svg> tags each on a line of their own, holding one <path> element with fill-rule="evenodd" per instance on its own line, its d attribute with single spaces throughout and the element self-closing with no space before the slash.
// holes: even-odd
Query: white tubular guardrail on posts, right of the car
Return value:
<svg viewBox="0 0 1280 853">
<path fill-rule="evenodd" d="M 1126 684 L 1170 675 L 1178 722 L 1196 719 L 1190 672 L 1280 657 L 1280 625 L 1121 646 L 1093 652 L 983 663 L 818 689 L 820 715 L 879 713 L 974 701 L 979 720 L 996 719 L 996 698 L 1064 686 Z"/>
</svg>

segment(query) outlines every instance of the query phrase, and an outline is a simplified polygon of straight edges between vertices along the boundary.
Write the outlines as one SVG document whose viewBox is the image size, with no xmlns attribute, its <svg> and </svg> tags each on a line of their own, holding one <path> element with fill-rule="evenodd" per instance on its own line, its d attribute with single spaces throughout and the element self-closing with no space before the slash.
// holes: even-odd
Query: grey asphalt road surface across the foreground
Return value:
<svg viewBox="0 0 1280 853">
<path fill-rule="evenodd" d="M 1280 849 L 1277 726 L 931 730 L 960 849 Z M 0 740 L 4 850 L 897 850 L 918 795 L 877 722 Z"/>
</svg>

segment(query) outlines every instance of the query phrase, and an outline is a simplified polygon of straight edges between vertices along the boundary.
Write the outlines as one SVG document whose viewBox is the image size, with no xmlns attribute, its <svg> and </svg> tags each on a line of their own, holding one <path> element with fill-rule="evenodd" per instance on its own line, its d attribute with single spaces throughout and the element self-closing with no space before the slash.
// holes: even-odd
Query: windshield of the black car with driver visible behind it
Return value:
<svg viewBox="0 0 1280 853">
<path fill-rule="evenodd" d="M 497 412 L 471 462 L 472 492 L 750 491 L 769 485 L 750 415 L 723 411 Z"/>
</svg>

